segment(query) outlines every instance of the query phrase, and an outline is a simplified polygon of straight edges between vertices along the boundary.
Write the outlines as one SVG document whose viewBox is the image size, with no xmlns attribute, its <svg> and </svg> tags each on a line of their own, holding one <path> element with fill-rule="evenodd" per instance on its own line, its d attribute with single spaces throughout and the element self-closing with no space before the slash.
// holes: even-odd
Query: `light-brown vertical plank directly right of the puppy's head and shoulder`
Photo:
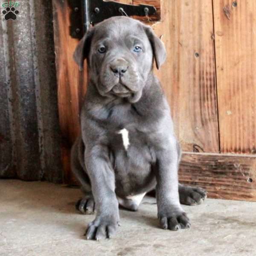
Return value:
<svg viewBox="0 0 256 256">
<path fill-rule="evenodd" d="M 163 35 L 167 60 L 157 75 L 177 137 L 184 151 L 218 152 L 212 1 L 164 0 L 161 13 L 152 27 Z"/>
</svg>

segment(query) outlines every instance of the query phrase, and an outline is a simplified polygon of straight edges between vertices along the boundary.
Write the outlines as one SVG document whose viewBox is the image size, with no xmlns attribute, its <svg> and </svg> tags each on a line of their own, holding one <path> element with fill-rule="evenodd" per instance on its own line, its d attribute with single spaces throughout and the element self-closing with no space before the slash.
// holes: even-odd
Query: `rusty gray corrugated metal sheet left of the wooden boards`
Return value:
<svg viewBox="0 0 256 256">
<path fill-rule="evenodd" d="M 0 22 L 0 177 L 61 182 L 52 3 L 17 2 Z"/>
</svg>

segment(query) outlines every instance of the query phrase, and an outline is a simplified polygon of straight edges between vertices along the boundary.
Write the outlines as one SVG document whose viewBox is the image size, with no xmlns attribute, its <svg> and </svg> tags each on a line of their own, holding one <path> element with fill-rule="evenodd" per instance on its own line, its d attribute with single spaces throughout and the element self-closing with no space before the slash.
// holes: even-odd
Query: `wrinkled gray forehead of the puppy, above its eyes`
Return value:
<svg viewBox="0 0 256 256">
<path fill-rule="evenodd" d="M 108 38 L 111 41 L 124 41 L 128 37 L 147 39 L 143 24 L 126 17 L 113 17 L 95 26 L 93 43 Z"/>
</svg>

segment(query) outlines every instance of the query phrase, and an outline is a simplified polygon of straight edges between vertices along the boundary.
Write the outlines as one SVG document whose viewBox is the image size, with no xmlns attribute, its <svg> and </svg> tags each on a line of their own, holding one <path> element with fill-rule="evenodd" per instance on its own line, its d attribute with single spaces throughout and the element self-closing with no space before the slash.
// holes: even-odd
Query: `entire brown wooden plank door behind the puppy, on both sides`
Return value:
<svg viewBox="0 0 256 256">
<path fill-rule="evenodd" d="M 256 3 L 254 0 L 120 0 L 152 4 L 143 19 L 166 45 L 167 60 L 155 70 L 171 106 L 183 149 L 182 183 L 209 197 L 256 201 Z M 67 0 L 53 0 L 58 105 L 65 183 L 70 148 L 79 134 L 79 109 L 87 71 L 72 55 Z M 134 17 L 138 18 L 138 17 Z"/>
</svg>

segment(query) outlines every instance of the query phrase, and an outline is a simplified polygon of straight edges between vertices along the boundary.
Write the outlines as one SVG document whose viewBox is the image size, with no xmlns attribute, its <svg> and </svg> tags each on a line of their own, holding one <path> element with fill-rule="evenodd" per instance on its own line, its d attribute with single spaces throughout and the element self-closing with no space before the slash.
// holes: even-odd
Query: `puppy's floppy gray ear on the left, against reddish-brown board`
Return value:
<svg viewBox="0 0 256 256">
<path fill-rule="evenodd" d="M 76 63 L 79 65 L 79 70 L 83 70 L 84 59 L 88 57 L 90 52 L 90 45 L 93 38 L 94 29 L 89 29 L 83 36 L 83 38 L 79 41 L 75 52 L 73 54 L 73 58 Z"/>
</svg>

